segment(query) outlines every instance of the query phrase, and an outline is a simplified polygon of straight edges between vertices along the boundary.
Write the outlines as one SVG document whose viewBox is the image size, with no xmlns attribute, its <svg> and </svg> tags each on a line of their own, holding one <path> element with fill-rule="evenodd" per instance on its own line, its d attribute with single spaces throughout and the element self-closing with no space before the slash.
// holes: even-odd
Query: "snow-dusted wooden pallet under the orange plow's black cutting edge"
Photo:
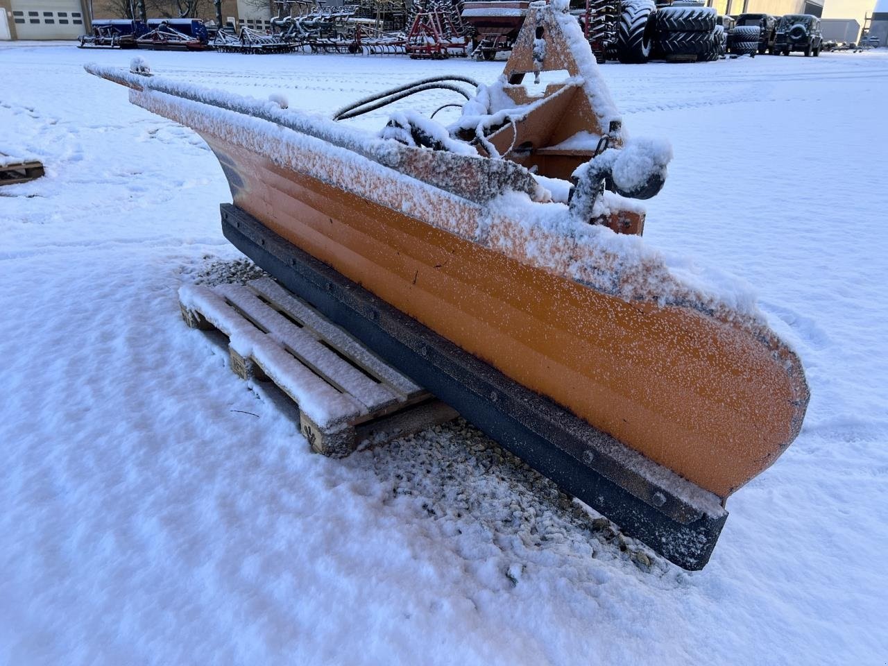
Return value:
<svg viewBox="0 0 888 666">
<path fill-rule="evenodd" d="M 457 416 L 270 278 L 187 285 L 179 305 L 189 327 L 226 335 L 235 374 L 271 381 L 297 403 L 299 430 L 325 456 Z"/>
</svg>

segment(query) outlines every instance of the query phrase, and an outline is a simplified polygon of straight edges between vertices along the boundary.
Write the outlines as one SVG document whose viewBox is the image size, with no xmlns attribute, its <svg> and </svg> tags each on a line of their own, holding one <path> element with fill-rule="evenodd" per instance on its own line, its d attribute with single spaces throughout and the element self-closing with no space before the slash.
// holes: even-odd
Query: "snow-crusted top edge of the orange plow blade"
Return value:
<svg viewBox="0 0 888 666">
<path fill-rule="evenodd" d="M 757 337 L 773 343 L 773 333 L 765 326 L 754 294 L 741 281 L 725 274 L 703 275 L 689 261 L 682 262 L 682 275 L 675 274 L 662 254 L 639 237 L 577 223 L 562 203 L 535 202 L 534 199 L 544 197 L 543 188 L 518 164 L 480 156 L 448 155 L 460 165 L 496 164 L 512 185 L 504 188 L 506 194 L 492 196 L 487 202 L 471 202 L 400 170 L 417 153 L 432 152 L 427 149 L 379 139 L 367 131 L 334 123 L 321 115 L 284 109 L 271 101 L 162 76 L 135 75 L 120 67 L 88 64 L 84 68 L 92 75 L 130 88 L 131 101 L 138 106 L 197 131 L 218 134 L 224 128 L 226 139 L 261 150 L 289 169 L 304 170 L 304 153 L 345 160 L 353 165 L 345 178 L 328 174 L 337 181 L 342 178 L 335 183 L 337 186 L 411 215 L 423 208 L 443 205 L 455 216 L 443 220 L 441 226 L 446 231 L 502 251 L 522 263 L 626 301 L 693 306 L 702 313 L 753 329 Z M 362 178 L 355 178 L 359 174 Z M 380 189 L 380 178 L 402 187 Z M 407 191 L 414 193 L 410 201 L 402 198 Z M 416 195 L 419 193 L 422 196 Z M 441 218 L 425 219 L 440 224 Z M 517 234 L 503 234 L 503 228 Z M 515 239 L 522 242 L 516 243 Z"/>
</svg>

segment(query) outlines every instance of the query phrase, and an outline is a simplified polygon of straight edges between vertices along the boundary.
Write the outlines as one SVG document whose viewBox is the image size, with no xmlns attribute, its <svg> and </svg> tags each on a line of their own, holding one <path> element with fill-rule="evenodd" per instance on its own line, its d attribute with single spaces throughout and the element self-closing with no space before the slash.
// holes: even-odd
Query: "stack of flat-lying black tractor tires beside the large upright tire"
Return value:
<svg viewBox="0 0 888 666">
<path fill-rule="evenodd" d="M 723 37 L 712 7 L 670 6 L 656 12 L 657 50 L 665 59 L 718 60 Z"/>
</svg>

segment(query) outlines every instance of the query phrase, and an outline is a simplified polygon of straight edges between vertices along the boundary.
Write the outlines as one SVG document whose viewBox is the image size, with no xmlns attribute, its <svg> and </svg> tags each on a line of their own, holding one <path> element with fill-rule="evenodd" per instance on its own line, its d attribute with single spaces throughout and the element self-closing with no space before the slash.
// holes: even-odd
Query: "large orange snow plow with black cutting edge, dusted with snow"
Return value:
<svg viewBox="0 0 888 666">
<path fill-rule="evenodd" d="M 567 3 L 528 7 L 496 83 L 433 77 L 334 120 L 87 70 L 201 134 L 223 232 L 258 266 L 679 566 L 706 564 L 727 497 L 797 436 L 796 354 L 637 237 L 670 149 L 627 137 Z M 466 98 L 446 127 L 342 122 L 430 89 Z"/>
</svg>

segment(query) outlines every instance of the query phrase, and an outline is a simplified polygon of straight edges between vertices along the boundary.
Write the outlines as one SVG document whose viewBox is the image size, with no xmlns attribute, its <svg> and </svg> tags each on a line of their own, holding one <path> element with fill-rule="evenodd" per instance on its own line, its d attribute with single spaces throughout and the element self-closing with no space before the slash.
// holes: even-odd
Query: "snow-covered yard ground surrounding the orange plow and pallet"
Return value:
<svg viewBox="0 0 888 666">
<path fill-rule="evenodd" d="M 674 148 L 646 242 L 749 281 L 811 385 L 695 574 L 464 424 L 310 454 L 179 318 L 183 281 L 234 270 L 230 194 L 201 139 L 83 72 L 130 57 L 0 46 L 0 152 L 47 170 L 0 189 L 0 663 L 888 660 L 888 54 L 605 67 L 628 130 Z M 324 113 L 502 67 L 146 57 Z"/>
</svg>

